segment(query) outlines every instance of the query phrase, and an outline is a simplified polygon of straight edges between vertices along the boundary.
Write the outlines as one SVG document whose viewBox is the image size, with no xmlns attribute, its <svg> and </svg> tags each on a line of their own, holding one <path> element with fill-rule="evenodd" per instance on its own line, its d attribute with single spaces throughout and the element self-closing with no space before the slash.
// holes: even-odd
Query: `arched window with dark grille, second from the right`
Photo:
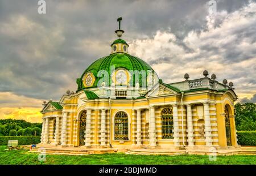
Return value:
<svg viewBox="0 0 256 176">
<path fill-rule="evenodd" d="M 173 130 L 174 130 L 172 109 L 171 108 L 163 109 L 161 117 L 162 117 L 162 138 L 174 139 L 172 136 Z"/>
</svg>

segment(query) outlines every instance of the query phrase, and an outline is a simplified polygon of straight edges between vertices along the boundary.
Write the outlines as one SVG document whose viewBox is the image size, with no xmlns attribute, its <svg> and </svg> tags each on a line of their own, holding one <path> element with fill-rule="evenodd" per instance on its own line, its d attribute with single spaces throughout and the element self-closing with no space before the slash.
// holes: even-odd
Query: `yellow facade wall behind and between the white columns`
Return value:
<svg viewBox="0 0 256 176">
<path fill-rule="evenodd" d="M 67 121 L 67 139 L 69 145 L 77 146 L 79 145 L 79 118 L 82 110 L 86 108 L 92 109 L 92 117 L 91 122 L 92 126 L 91 129 L 93 131 L 92 133 L 92 145 L 100 145 L 100 126 L 101 126 L 101 108 L 106 109 L 106 130 L 107 130 L 107 136 L 108 141 L 107 144 L 109 144 L 109 138 L 111 138 L 111 143 L 113 146 L 120 145 L 131 145 L 136 144 L 136 138 L 135 138 L 135 131 L 136 131 L 136 108 L 141 108 L 141 118 L 142 118 L 142 144 L 147 145 L 148 139 L 146 139 L 146 135 L 148 134 L 147 131 L 147 123 L 149 119 L 149 105 L 154 104 L 159 106 L 155 106 L 155 121 L 156 121 L 156 139 L 158 140 L 157 144 L 174 144 L 174 141 L 172 139 L 170 140 L 163 140 L 162 139 L 162 122 L 161 122 L 161 112 L 164 108 L 172 108 L 171 105 L 164 105 L 168 104 L 170 102 L 179 102 L 178 106 L 178 118 L 179 118 L 179 129 L 182 130 L 182 119 L 181 119 L 181 105 L 180 105 L 180 96 L 179 95 L 167 95 L 167 96 L 159 96 L 154 98 L 144 98 L 139 100 L 111 100 L 111 114 L 110 113 L 110 106 L 109 106 L 109 100 L 105 99 L 99 99 L 99 100 L 88 100 L 86 101 L 85 105 L 80 106 L 77 108 L 77 101 L 78 96 L 72 96 L 71 98 L 64 98 L 63 102 L 63 111 L 68 111 L 68 121 Z M 212 119 L 212 134 L 213 137 L 213 145 L 220 147 L 226 147 L 226 134 L 225 134 L 225 121 L 224 121 L 224 107 L 226 104 L 230 106 L 230 114 L 231 116 L 234 115 L 234 106 L 233 106 L 233 98 L 230 93 L 209 93 L 209 92 L 202 92 L 202 93 L 196 93 L 193 95 L 193 93 L 185 93 L 183 102 L 191 102 L 191 101 L 197 101 L 196 103 L 192 103 L 192 119 L 193 119 L 193 128 L 195 135 L 195 145 L 205 145 L 205 142 L 203 139 L 199 136 L 199 127 L 200 125 L 204 124 L 204 119 L 200 119 L 197 115 L 197 106 L 203 106 L 201 102 L 208 100 L 210 102 L 209 109 L 210 109 L 210 118 Z M 187 114 L 186 114 L 186 106 L 183 106 L 183 131 L 184 131 L 184 140 L 187 140 Z M 114 131 L 113 127 L 109 129 L 109 122 L 112 123 L 113 126 L 113 120 L 114 115 L 117 113 L 117 111 L 122 110 L 125 111 L 129 117 L 129 140 L 127 141 L 118 141 L 114 140 Z M 61 116 L 61 111 L 46 111 L 43 113 L 43 117 L 56 117 Z M 49 121 L 49 129 L 52 128 L 52 119 Z M 60 123 L 61 126 L 61 123 Z M 234 118 L 230 118 L 230 126 L 232 131 L 232 145 L 236 144 L 236 127 L 234 123 Z M 110 132 L 109 132 L 110 131 Z M 110 134 L 112 134 L 110 136 Z M 180 145 L 182 145 L 182 132 L 179 132 L 180 134 Z M 49 139 L 53 140 L 53 134 L 49 133 Z M 185 142 L 185 145 L 187 145 L 187 142 Z"/>
</svg>

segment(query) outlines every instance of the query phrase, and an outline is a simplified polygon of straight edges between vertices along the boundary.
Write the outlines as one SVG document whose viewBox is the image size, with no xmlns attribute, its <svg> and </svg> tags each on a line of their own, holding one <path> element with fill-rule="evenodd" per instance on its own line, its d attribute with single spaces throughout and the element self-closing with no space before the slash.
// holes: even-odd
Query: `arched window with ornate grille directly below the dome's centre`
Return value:
<svg viewBox="0 0 256 176">
<path fill-rule="evenodd" d="M 115 140 L 128 140 L 128 116 L 124 111 L 115 114 Z"/>
</svg>

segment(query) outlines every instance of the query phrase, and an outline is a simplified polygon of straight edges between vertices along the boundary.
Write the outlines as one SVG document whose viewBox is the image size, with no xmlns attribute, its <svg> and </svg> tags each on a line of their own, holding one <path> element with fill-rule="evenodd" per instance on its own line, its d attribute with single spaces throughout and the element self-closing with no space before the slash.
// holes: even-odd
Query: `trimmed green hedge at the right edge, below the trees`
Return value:
<svg viewBox="0 0 256 176">
<path fill-rule="evenodd" d="M 256 131 L 237 131 L 237 140 L 240 145 L 256 145 Z"/>
</svg>

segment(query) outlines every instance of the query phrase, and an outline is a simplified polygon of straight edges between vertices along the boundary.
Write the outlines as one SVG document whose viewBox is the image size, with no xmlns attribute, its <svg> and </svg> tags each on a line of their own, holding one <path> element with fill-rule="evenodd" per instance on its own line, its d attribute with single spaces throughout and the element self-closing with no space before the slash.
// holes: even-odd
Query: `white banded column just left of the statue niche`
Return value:
<svg viewBox="0 0 256 176">
<path fill-rule="evenodd" d="M 193 119 L 191 105 L 187 105 L 187 132 L 188 132 L 188 146 L 194 146 L 194 135 L 193 135 Z"/>
</svg>

